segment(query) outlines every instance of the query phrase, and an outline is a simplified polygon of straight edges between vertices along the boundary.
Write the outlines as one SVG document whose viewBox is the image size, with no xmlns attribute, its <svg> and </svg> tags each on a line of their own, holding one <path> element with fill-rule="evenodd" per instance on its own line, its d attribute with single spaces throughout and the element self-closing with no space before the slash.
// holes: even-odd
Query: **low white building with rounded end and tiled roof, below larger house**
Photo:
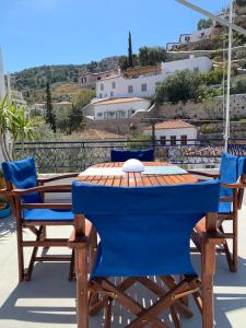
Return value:
<svg viewBox="0 0 246 328">
<path fill-rule="evenodd" d="M 96 102 L 94 107 L 95 120 L 130 118 L 137 110 L 148 110 L 151 101 L 147 98 L 108 98 Z"/>
</svg>

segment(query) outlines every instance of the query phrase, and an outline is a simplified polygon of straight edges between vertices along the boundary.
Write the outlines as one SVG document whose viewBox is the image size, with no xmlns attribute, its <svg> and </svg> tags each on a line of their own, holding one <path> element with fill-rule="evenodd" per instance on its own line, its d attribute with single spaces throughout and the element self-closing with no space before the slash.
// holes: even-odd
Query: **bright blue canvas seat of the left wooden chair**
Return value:
<svg viewBox="0 0 246 328">
<path fill-rule="evenodd" d="M 25 221 L 72 221 L 74 214 L 69 210 L 33 209 L 23 210 Z"/>
</svg>

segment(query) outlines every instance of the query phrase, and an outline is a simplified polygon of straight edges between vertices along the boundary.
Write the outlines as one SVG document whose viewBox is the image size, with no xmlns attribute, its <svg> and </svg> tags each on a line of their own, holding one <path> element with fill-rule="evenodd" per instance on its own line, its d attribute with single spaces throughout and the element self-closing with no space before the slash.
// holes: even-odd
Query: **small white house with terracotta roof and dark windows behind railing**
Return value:
<svg viewBox="0 0 246 328">
<path fill-rule="evenodd" d="M 143 134 L 152 136 L 152 127 L 147 127 Z M 155 139 L 160 140 L 162 145 L 194 144 L 197 128 L 183 120 L 162 121 L 155 125 Z"/>
</svg>

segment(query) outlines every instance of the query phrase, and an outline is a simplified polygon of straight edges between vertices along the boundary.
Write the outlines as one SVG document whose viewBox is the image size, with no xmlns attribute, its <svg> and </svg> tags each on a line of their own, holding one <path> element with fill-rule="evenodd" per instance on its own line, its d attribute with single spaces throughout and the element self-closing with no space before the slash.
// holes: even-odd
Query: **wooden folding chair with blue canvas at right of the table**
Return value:
<svg viewBox="0 0 246 328">
<path fill-rule="evenodd" d="M 224 234 L 226 243 L 216 248 L 220 254 L 225 254 L 229 268 L 237 271 L 238 261 L 238 211 L 242 208 L 244 188 L 246 187 L 246 157 L 239 157 L 224 153 L 221 159 L 220 174 L 191 171 L 192 174 L 207 178 L 220 178 L 220 206 L 218 215 L 218 229 Z M 191 173 L 190 172 L 190 173 Z M 232 231 L 224 231 L 224 222 L 232 222 Z M 201 249 L 202 236 L 206 232 L 206 222 L 202 219 L 195 227 L 192 241 L 198 250 Z M 232 254 L 229 241 L 232 241 Z"/>
</svg>

